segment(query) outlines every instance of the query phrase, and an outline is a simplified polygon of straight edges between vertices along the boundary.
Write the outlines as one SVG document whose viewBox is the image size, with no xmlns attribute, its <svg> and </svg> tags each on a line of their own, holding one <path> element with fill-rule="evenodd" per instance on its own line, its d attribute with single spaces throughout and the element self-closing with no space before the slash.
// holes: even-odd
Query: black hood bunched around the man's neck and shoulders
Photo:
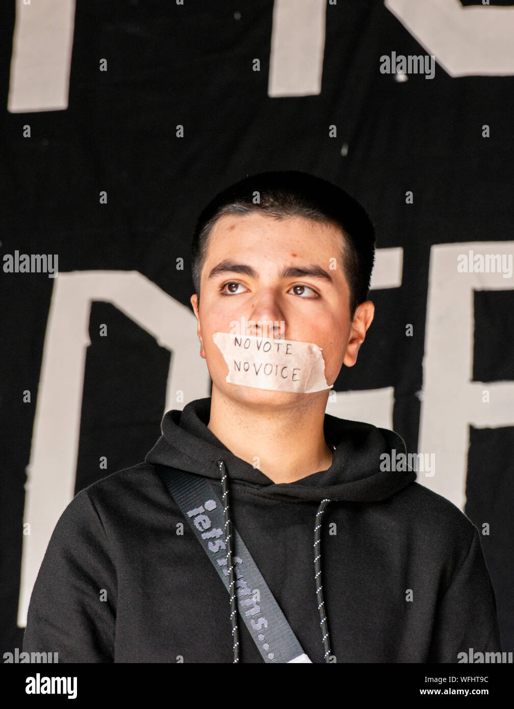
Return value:
<svg viewBox="0 0 514 709">
<path fill-rule="evenodd" d="M 381 470 L 382 454 L 393 457 L 406 453 L 397 433 L 325 413 L 325 441 L 335 446 L 330 468 L 292 483 L 274 483 L 223 445 L 207 428 L 210 417 L 211 397 L 191 401 L 182 411 L 168 411 L 162 419 L 162 436 L 145 462 L 219 481 L 221 460 L 230 482 L 241 481 L 265 496 L 281 499 L 374 502 L 391 497 L 415 481 L 415 471 Z"/>
</svg>

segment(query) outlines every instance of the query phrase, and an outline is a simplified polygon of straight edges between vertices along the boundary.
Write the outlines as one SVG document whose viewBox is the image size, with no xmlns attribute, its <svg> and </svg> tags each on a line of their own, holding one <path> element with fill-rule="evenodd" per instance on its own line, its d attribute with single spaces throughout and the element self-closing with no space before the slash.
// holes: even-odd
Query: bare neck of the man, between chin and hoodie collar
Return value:
<svg viewBox="0 0 514 709">
<path fill-rule="evenodd" d="M 291 483 L 332 465 L 333 450 L 323 432 L 328 393 L 320 394 L 299 394 L 290 403 L 261 406 L 227 398 L 213 386 L 207 428 L 274 483 Z M 299 397 L 305 398 L 298 403 Z"/>
</svg>

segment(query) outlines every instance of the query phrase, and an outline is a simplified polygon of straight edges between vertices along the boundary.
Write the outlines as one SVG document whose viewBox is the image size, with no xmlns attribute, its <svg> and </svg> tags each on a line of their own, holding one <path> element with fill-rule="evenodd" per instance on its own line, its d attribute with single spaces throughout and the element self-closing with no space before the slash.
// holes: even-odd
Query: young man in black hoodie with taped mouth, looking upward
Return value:
<svg viewBox="0 0 514 709">
<path fill-rule="evenodd" d="M 269 596 L 246 582 L 237 531 L 298 641 L 296 661 L 501 652 L 476 527 L 412 471 L 383 470 L 384 454 L 405 451 L 395 432 L 325 414 L 373 319 L 373 262 L 363 208 L 312 175 L 247 177 L 209 203 L 191 303 L 212 396 L 168 411 L 144 463 L 69 503 L 35 582 L 25 651 L 276 661 L 285 630 L 272 635 Z M 213 495 L 189 498 L 188 519 L 162 471 L 186 471 Z M 209 517 L 216 496 L 223 534 Z"/>
</svg>

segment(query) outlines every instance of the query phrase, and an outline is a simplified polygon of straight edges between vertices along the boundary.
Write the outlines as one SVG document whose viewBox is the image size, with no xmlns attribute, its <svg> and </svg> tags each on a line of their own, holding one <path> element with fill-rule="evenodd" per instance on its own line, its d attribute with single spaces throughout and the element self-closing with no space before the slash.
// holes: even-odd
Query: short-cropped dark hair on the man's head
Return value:
<svg viewBox="0 0 514 709">
<path fill-rule="evenodd" d="M 250 175 L 223 189 L 203 208 L 191 247 L 191 272 L 198 297 L 208 242 L 217 220 L 225 214 L 245 216 L 252 212 L 277 219 L 303 217 L 334 225 L 342 232 L 342 266 L 350 288 L 353 317 L 355 308 L 369 292 L 375 255 L 374 225 L 350 194 L 322 177 L 299 170 Z"/>
</svg>

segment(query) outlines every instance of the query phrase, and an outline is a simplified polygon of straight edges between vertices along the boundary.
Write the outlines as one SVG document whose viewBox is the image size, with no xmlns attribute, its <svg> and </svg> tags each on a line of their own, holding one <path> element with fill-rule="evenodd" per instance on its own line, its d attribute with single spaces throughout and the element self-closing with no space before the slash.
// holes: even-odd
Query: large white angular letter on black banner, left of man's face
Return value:
<svg viewBox="0 0 514 709">
<path fill-rule="evenodd" d="M 72 501 L 79 449 L 80 412 L 91 301 L 112 303 L 172 352 L 164 413 L 209 396 L 211 377 L 199 356 L 194 313 L 137 271 L 76 271 L 55 279 L 48 313 L 27 467 L 18 625 L 27 622 L 35 578 L 57 520 Z M 144 362 L 141 366 L 144 367 Z M 138 382 L 133 382 L 138 386 Z"/>
</svg>

